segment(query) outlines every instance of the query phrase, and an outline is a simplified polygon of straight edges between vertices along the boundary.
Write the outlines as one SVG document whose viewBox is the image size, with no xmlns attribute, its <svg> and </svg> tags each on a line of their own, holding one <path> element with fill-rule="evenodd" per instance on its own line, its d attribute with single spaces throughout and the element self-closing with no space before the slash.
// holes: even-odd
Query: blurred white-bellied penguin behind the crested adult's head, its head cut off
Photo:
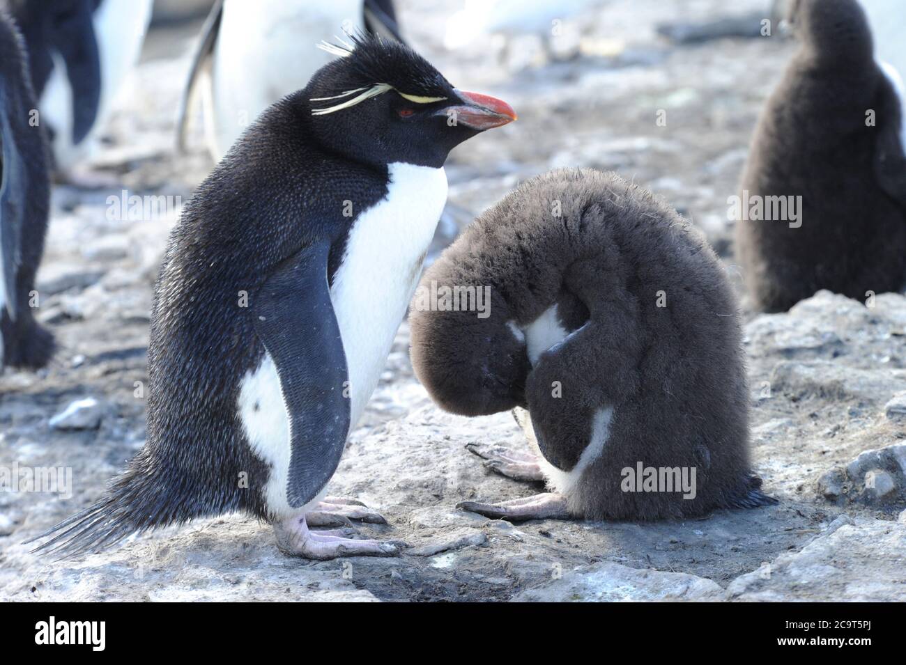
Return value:
<svg viewBox="0 0 906 665">
<path fill-rule="evenodd" d="M 177 123 L 187 142 L 188 114 L 200 93 L 207 149 L 226 155 L 276 100 L 304 87 L 330 55 L 313 48 L 343 33 L 400 40 L 390 0 L 217 0 L 201 31 Z"/>
</svg>

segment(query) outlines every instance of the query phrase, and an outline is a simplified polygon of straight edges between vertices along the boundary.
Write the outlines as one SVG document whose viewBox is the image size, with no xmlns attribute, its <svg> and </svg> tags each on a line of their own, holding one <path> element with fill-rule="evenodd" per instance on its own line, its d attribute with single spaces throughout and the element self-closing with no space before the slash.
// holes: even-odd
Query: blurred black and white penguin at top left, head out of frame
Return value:
<svg viewBox="0 0 906 665">
<path fill-rule="evenodd" d="M 54 167 L 85 157 L 139 59 L 153 0 L 8 0 L 28 50 Z"/>
</svg>

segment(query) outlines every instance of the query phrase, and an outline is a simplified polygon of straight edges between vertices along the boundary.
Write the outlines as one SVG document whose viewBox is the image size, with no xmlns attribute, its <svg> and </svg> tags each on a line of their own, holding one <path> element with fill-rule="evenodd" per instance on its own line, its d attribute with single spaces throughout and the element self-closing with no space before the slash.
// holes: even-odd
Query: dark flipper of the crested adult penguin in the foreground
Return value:
<svg viewBox="0 0 906 665">
<path fill-rule="evenodd" d="M 255 332 L 274 360 L 289 416 L 286 498 L 292 508 L 323 489 L 340 463 L 350 426 L 348 373 L 327 283 L 328 242 L 284 261 L 255 294 Z"/>
</svg>

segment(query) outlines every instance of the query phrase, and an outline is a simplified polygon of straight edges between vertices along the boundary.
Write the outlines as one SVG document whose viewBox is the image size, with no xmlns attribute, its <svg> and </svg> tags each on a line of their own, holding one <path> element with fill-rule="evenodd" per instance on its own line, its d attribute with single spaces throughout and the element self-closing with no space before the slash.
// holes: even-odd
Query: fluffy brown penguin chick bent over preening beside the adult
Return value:
<svg viewBox="0 0 906 665">
<path fill-rule="evenodd" d="M 472 288 L 487 290 L 480 316 L 462 306 Z M 551 490 L 460 508 L 660 519 L 773 502 L 750 473 L 728 279 L 702 235 L 646 190 L 590 169 L 526 181 L 425 271 L 410 312 L 412 365 L 431 397 L 471 416 L 515 408 L 535 454 L 473 451 Z"/>
</svg>

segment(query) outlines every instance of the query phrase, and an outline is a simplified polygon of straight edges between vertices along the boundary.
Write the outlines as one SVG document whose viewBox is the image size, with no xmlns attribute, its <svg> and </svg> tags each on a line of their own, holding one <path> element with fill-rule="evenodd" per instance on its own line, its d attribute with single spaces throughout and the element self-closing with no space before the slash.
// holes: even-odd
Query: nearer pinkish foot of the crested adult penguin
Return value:
<svg viewBox="0 0 906 665">
<path fill-rule="evenodd" d="M 403 544 L 399 540 L 356 540 L 340 531 L 312 531 L 306 516 L 284 519 L 274 525 L 277 548 L 284 554 L 327 561 L 340 556 L 397 556 Z"/>
</svg>

